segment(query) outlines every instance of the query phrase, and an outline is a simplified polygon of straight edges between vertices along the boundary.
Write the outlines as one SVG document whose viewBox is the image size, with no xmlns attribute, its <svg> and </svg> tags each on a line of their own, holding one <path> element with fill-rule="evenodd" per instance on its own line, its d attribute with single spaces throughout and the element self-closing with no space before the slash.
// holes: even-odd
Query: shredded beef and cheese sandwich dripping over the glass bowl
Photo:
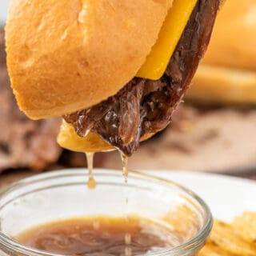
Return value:
<svg viewBox="0 0 256 256">
<path fill-rule="evenodd" d="M 220 0 L 11 0 L 7 64 L 18 106 L 63 116 L 70 150 L 130 156 L 164 129 L 206 51 Z"/>
</svg>

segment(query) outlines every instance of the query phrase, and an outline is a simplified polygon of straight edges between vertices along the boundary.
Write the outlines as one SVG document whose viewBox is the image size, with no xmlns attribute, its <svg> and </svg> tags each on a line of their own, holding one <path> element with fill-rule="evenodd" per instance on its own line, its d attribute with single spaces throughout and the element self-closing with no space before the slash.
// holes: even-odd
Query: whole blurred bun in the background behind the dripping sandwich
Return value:
<svg viewBox="0 0 256 256">
<path fill-rule="evenodd" d="M 226 0 L 186 95 L 198 103 L 256 104 L 256 1 Z"/>
</svg>

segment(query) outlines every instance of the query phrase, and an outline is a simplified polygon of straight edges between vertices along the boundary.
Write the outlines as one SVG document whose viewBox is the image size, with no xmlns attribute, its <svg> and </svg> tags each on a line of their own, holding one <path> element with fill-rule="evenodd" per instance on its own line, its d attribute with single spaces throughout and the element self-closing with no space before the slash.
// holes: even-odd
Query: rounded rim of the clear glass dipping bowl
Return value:
<svg viewBox="0 0 256 256">
<path fill-rule="evenodd" d="M 117 174 L 122 175 L 121 170 L 113 170 L 113 169 L 94 169 L 94 176 L 97 177 L 101 174 L 108 174 L 110 176 L 115 176 Z M 74 169 L 65 169 L 65 170 L 54 170 L 49 171 L 42 174 L 36 174 L 29 178 L 23 178 L 18 182 L 12 183 L 10 186 L 7 186 L 5 189 L 0 190 L 0 201 L 2 198 L 4 198 L 5 195 L 8 193 L 13 192 L 14 190 L 21 189 L 23 186 L 29 186 L 36 182 L 43 182 L 47 181 L 52 178 L 66 178 L 66 177 L 78 177 L 78 176 L 85 176 L 87 175 L 87 172 L 85 171 L 85 168 L 74 168 Z M 159 250 L 159 252 L 149 253 L 146 254 L 147 256 L 176 256 L 176 255 L 183 255 L 186 254 L 190 250 L 194 250 L 198 248 L 203 242 L 206 241 L 206 238 L 210 234 L 210 230 L 213 226 L 213 216 L 210 212 L 209 206 L 207 206 L 206 202 L 202 198 L 198 196 L 198 194 L 195 194 L 192 190 L 186 188 L 185 186 L 179 185 L 176 182 L 172 182 L 170 180 L 167 180 L 165 178 L 159 178 L 157 176 L 151 175 L 151 174 L 145 174 L 138 171 L 132 171 L 129 170 L 129 178 L 140 178 L 146 182 L 156 182 L 158 185 L 166 185 L 173 188 L 176 188 L 186 195 L 190 196 L 191 198 L 194 198 L 194 200 L 198 203 L 199 207 L 202 209 L 202 218 L 203 223 L 200 230 L 198 230 L 198 233 L 193 237 L 187 240 L 186 242 L 183 242 L 179 246 L 175 246 L 174 248 L 170 248 L 167 250 Z M 9 238 L 6 236 L 6 234 L 3 234 L 2 231 L 0 231 L 0 250 L 1 247 L 5 246 L 7 250 L 14 251 L 15 253 L 22 254 L 22 255 L 40 255 L 40 256 L 63 256 L 63 254 L 52 254 L 43 250 L 37 250 L 34 248 L 30 248 L 29 246 L 24 246 L 19 242 L 14 241 L 14 239 Z"/>
</svg>

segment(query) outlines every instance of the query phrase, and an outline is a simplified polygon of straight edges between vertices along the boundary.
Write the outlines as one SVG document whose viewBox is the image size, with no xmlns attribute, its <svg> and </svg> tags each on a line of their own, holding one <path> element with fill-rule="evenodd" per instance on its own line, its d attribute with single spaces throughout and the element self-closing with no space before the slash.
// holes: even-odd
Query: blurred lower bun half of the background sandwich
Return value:
<svg viewBox="0 0 256 256">
<path fill-rule="evenodd" d="M 256 72 L 201 65 L 186 99 L 199 103 L 256 104 Z"/>
</svg>

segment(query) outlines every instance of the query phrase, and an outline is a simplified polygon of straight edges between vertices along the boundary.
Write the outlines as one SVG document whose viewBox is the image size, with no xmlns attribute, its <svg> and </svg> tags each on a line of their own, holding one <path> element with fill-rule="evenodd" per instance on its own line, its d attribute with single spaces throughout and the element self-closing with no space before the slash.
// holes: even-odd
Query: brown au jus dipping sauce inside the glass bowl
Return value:
<svg viewBox="0 0 256 256">
<path fill-rule="evenodd" d="M 74 218 L 46 223 L 20 234 L 17 241 L 63 255 L 143 255 L 178 246 L 183 238 L 141 217 Z"/>
</svg>

